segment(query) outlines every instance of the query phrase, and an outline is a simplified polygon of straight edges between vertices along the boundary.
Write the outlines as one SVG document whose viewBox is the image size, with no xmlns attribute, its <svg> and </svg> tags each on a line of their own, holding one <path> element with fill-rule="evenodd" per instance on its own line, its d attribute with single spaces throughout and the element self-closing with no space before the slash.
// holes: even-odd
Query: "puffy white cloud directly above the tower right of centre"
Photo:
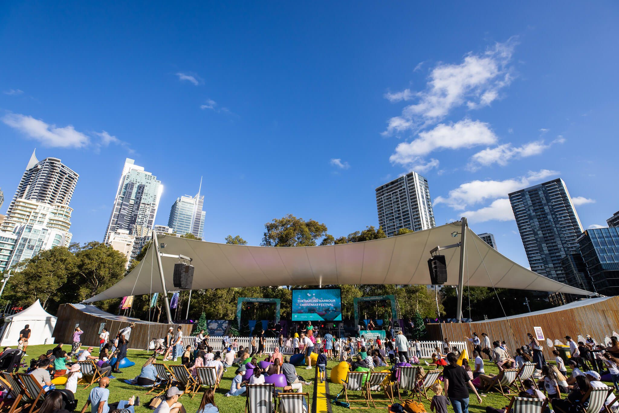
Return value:
<svg viewBox="0 0 619 413">
<path fill-rule="evenodd" d="M 496 141 L 496 135 L 484 122 L 464 119 L 455 124 L 441 123 L 430 131 L 419 133 L 411 142 L 400 143 L 389 160 L 407 166 L 423 165 L 423 157 L 434 150 L 470 148 Z M 433 159 L 428 162 L 430 164 L 438 166 L 438 160 Z"/>
</svg>

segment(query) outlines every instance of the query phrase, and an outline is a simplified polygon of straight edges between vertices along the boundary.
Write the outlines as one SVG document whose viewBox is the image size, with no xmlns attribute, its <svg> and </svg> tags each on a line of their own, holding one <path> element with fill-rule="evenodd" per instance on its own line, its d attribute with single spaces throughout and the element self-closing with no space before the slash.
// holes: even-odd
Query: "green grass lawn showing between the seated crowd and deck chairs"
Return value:
<svg viewBox="0 0 619 413">
<path fill-rule="evenodd" d="M 55 347 L 54 344 L 50 344 L 46 346 L 29 346 L 27 349 L 28 357 L 26 357 L 26 359 L 28 360 L 28 363 L 30 362 L 30 359 L 37 358 L 39 355 L 44 354 L 46 350 L 52 349 L 53 347 Z M 68 346 L 68 345 L 64 347 L 66 347 L 66 350 L 71 349 L 71 346 Z M 82 347 L 82 349 L 83 348 L 85 347 Z M 95 349 L 93 351 L 93 355 L 97 355 L 97 354 L 98 354 L 98 349 Z M 110 402 L 115 402 L 119 400 L 128 400 L 133 394 L 135 394 L 136 396 L 140 396 L 142 405 L 145 405 L 147 404 L 147 402 L 150 401 L 150 399 L 152 398 L 152 394 L 145 394 L 147 389 L 137 387 L 137 386 L 131 386 L 131 385 L 128 385 L 127 383 L 124 383 L 123 381 L 126 379 L 134 378 L 135 376 L 139 375 L 142 364 L 144 364 L 146 359 L 148 359 L 149 355 L 150 354 L 145 352 L 144 350 L 129 350 L 128 358 L 132 362 L 135 362 L 136 365 L 134 365 L 133 367 L 123 368 L 121 370 L 123 373 L 116 375 L 116 379 L 110 381 Z M 162 357 L 160 356 L 158 359 L 159 359 L 158 362 L 160 362 Z M 165 362 L 165 364 L 178 364 L 178 363 Z M 327 380 L 329 380 L 331 368 L 335 367 L 335 365 L 337 365 L 337 362 L 335 361 L 330 361 L 328 363 Z M 425 367 L 425 365 L 424 365 L 424 368 L 426 368 L 426 371 L 427 371 L 427 367 Z M 217 389 L 217 392 L 215 394 L 215 403 L 217 404 L 217 406 L 219 406 L 219 411 L 222 413 L 243 412 L 245 410 L 245 400 L 246 400 L 245 396 L 229 397 L 229 398 L 225 397 L 225 394 L 228 392 L 228 390 L 230 390 L 230 385 L 232 385 L 232 378 L 234 377 L 235 370 L 236 370 L 236 367 L 232 367 L 232 368 L 228 368 L 228 372 L 223 373 L 223 378 L 221 381 L 220 388 Z M 493 363 L 490 363 L 490 362 L 486 363 L 485 370 L 487 373 L 495 373 L 495 374 L 498 373 L 498 369 L 495 367 L 495 365 L 493 365 Z M 310 394 L 309 402 L 311 403 L 312 398 L 313 398 L 313 393 L 314 393 L 314 375 L 316 374 L 316 372 L 314 369 L 305 370 L 305 367 L 298 367 L 297 373 L 301 377 L 305 378 L 307 381 L 312 381 L 312 385 L 303 386 L 303 391 Z M 607 383 L 607 385 L 612 386 L 612 383 Z M 58 386 L 58 388 L 64 388 L 64 386 Z M 88 398 L 88 394 L 90 393 L 90 389 L 92 389 L 92 386 L 88 389 L 84 389 L 84 386 L 78 386 L 77 393 L 76 393 L 76 398 L 79 400 L 77 404 L 78 410 L 81 410 L 82 407 L 84 406 L 84 403 L 86 399 Z M 341 389 L 342 389 L 342 385 L 335 385 L 334 383 L 329 383 L 329 393 L 331 394 L 331 397 L 339 393 Z M 357 396 L 360 392 L 350 392 L 350 393 L 355 394 L 355 396 Z M 429 395 L 430 397 L 433 396 L 431 392 Z M 343 396 L 344 394 L 342 394 L 342 398 Z M 563 397 L 565 398 L 565 395 L 563 395 Z M 185 394 L 181 396 L 180 402 L 183 403 L 183 406 L 185 407 L 188 413 L 196 413 L 197 408 L 199 407 L 201 398 L 202 398 L 202 393 L 197 393 L 193 399 L 191 398 L 190 395 Z M 486 406 L 492 406 L 492 407 L 496 407 L 497 409 L 500 409 L 506 406 L 506 404 L 508 403 L 509 403 L 509 399 L 503 397 L 500 393 L 488 393 L 485 395 L 485 397 L 482 396 L 481 405 L 478 404 L 475 397 L 472 396 L 470 398 L 469 411 L 474 412 L 474 413 L 485 412 Z M 379 404 L 381 407 L 387 406 L 387 402 L 376 402 L 377 407 L 379 406 Z M 430 402 L 424 401 L 423 404 L 426 407 L 426 411 L 430 412 Z M 353 402 L 352 406 L 362 407 L 366 405 L 365 405 L 365 402 Z M 338 413 L 338 412 L 342 413 L 342 412 L 348 411 L 348 409 L 344 407 L 340 407 L 340 406 L 331 406 L 331 407 L 332 407 L 332 411 L 335 413 Z M 383 411 L 384 412 L 384 409 L 374 409 L 372 407 L 369 410 L 364 409 L 364 411 L 369 411 L 369 412 Z M 449 408 L 449 411 L 452 411 L 451 407 Z M 136 413 L 147 413 L 147 412 L 151 412 L 149 409 L 147 409 L 147 407 L 141 406 L 141 407 L 136 408 Z"/>
</svg>

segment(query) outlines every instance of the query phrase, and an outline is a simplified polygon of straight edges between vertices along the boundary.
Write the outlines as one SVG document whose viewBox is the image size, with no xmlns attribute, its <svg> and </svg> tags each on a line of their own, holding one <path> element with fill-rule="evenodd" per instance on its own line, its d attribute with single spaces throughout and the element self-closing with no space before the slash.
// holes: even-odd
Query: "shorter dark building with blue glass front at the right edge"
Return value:
<svg viewBox="0 0 619 413">
<path fill-rule="evenodd" d="M 619 227 L 588 229 L 578 246 L 594 291 L 619 295 Z"/>
</svg>

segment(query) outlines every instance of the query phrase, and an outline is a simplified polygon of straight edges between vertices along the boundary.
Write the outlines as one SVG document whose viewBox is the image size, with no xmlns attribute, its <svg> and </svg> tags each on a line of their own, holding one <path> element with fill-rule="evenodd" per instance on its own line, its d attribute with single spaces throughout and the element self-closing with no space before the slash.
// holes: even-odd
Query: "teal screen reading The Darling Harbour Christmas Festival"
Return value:
<svg viewBox="0 0 619 413">
<path fill-rule="evenodd" d="M 342 321 L 342 290 L 292 289 L 292 321 Z"/>
</svg>

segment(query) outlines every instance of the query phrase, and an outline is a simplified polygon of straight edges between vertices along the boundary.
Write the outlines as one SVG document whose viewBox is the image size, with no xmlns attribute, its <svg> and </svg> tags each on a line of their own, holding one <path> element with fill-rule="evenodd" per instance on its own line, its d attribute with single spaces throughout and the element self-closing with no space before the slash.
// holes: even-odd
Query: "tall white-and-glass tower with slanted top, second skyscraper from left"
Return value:
<svg viewBox="0 0 619 413">
<path fill-rule="evenodd" d="M 114 199 L 114 206 L 110 214 L 110 221 L 105 230 L 103 242 L 112 245 L 112 232 L 124 230 L 123 235 L 135 235 L 131 258 L 142 250 L 142 238 L 149 235 L 155 223 L 159 199 L 163 191 L 161 181 L 144 167 L 135 165 L 133 159 L 127 158 L 124 162 L 123 173 L 118 183 L 118 190 Z M 124 248 L 123 251 L 124 252 Z"/>
</svg>

